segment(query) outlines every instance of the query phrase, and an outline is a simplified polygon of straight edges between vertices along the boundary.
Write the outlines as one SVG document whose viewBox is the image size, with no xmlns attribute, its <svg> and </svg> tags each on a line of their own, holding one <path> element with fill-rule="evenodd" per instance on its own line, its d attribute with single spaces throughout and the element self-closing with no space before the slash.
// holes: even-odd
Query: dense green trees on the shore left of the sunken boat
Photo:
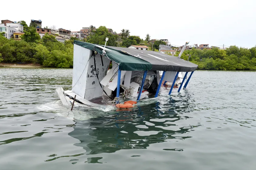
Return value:
<svg viewBox="0 0 256 170">
<path fill-rule="evenodd" d="M 61 43 L 45 34 L 41 39 L 34 26 L 26 28 L 21 41 L 0 34 L 0 62 L 38 63 L 45 67 L 73 67 L 73 41 Z"/>
</svg>

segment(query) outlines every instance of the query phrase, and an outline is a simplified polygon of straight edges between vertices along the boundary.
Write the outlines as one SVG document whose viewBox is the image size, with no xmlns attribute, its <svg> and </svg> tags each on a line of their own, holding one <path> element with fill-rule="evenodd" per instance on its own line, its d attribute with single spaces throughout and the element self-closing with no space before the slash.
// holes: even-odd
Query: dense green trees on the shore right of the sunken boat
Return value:
<svg viewBox="0 0 256 170">
<path fill-rule="evenodd" d="M 193 48 L 185 50 L 181 58 L 188 60 L 189 54 L 189 61 L 200 70 L 256 70 L 256 46 L 250 49 L 230 46 L 226 50 Z"/>
</svg>

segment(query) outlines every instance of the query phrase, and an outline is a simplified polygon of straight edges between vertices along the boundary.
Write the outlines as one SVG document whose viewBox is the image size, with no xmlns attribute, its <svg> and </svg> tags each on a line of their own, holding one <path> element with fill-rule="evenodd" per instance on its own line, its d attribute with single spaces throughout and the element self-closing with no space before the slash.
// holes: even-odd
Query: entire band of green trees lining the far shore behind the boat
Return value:
<svg viewBox="0 0 256 170">
<path fill-rule="evenodd" d="M 22 25 L 26 22 L 22 21 Z M 61 43 L 56 40 L 55 36 L 45 34 L 41 39 L 36 32 L 35 25 L 26 25 L 25 34 L 22 35 L 21 41 L 7 39 L 0 33 L 0 62 L 6 63 L 38 63 L 45 67 L 70 68 L 73 67 L 73 40 L 66 40 Z M 137 36 L 130 36 L 129 30 L 121 30 L 121 37 L 111 34 L 105 26 L 100 26 L 93 30 L 86 39 L 93 44 L 105 44 L 108 37 L 108 46 L 129 47 L 130 45 L 144 44 L 149 50 L 158 51 L 163 41 L 149 43 L 150 35 L 147 34 L 145 41 Z M 84 39 L 85 41 L 85 39 Z M 121 42 L 121 43 L 120 43 Z M 178 56 L 179 53 L 176 54 Z M 213 48 L 186 50 L 181 58 L 198 65 L 198 69 L 206 70 L 256 70 L 256 46 L 250 49 L 230 46 L 226 50 Z"/>
</svg>

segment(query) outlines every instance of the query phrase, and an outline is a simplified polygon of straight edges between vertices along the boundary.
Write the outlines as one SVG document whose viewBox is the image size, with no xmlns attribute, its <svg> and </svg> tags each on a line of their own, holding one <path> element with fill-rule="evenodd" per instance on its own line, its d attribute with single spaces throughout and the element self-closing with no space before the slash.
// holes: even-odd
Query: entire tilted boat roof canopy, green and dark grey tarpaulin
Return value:
<svg viewBox="0 0 256 170">
<path fill-rule="evenodd" d="M 74 41 L 74 44 L 92 51 L 97 51 L 99 54 L 102 54 L 102 49 L 104 47 L 102 45 L 90 44 L 82 41 Z M 196 70 L 198 67 L 196 64 L 183 60 L 179 57 L 170 56 L 155 51 L 111 46 L 106 46 L 105 51 L 106 54 L 104 56 L 119 64 L 120 70 L 191 72 Z"/>
</svg>

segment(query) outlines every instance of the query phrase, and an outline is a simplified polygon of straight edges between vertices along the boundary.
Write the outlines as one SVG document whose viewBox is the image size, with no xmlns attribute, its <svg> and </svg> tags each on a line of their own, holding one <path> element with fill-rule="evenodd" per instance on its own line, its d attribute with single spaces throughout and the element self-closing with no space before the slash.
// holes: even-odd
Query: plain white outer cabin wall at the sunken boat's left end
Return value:
<svg viewBox="0 0 256 170">
<path fill-rule="evenodd" d="M 87 71 L 92 51 L 74 44 L 74 57 L 73 57 L 73 80 L 72 92 L 84 97 L 86 89 Z"/>
</svg>

